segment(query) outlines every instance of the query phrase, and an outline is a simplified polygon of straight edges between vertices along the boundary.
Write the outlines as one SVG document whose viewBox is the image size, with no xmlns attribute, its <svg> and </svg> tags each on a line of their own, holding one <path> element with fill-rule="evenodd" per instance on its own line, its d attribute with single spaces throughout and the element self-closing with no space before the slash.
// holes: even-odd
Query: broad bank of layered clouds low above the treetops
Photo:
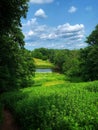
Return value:
<svg viewBox="0 0 98 130">
<path fill-rule="evenodd" d="M 23 26 L 26 47 L 32 46 L 32 48 L 48 47 L 71 49 L 85 46 L 83 42 L 84 29 L 83 24 L 70 25 L 69 23 L 49 27 L 47 25 L 40 25 L 34 19 L 28 21 L 25 26 Z"/>
</svg>

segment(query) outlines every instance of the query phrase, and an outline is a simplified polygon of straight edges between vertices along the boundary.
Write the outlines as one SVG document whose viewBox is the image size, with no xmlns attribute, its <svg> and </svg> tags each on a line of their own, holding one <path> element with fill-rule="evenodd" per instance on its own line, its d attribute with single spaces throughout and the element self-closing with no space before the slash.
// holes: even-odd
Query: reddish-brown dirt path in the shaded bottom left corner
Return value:
<svg viewBox="0 0 98 130">
<path fill-rule="evenodd" d="M 15 124 L 15 120 L 12 116 L 12 114 L 8 110 L 3 110 L 3 124 L 1 127 L 1 130 L 19 130 L 17 125 Z"/>
</svg>

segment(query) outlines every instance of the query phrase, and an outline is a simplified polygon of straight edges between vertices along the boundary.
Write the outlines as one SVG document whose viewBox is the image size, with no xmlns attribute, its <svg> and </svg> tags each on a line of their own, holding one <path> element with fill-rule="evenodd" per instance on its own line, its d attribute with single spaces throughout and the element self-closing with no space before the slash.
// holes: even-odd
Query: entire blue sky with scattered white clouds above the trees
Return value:
<svg viewBox="0 0 98 130">
<path fill-rule="evenodd" d="M 80 49 L 98 24 L 98 0 L 30 0 L 25 48 Z"/>
</svg>

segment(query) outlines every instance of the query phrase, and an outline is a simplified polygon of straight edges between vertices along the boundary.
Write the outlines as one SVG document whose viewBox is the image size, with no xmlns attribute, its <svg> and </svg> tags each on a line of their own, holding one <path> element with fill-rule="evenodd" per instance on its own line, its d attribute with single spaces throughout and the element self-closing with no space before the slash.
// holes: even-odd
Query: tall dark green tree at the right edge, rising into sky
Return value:
<svg viewBox="0 0 98 130">
<path fill-rule="evenodd" d="M 81 50 L 81 75 L 85 81 L 98 80 L 98 25 L 87 37 L 88 47 Z"/>
</svg>

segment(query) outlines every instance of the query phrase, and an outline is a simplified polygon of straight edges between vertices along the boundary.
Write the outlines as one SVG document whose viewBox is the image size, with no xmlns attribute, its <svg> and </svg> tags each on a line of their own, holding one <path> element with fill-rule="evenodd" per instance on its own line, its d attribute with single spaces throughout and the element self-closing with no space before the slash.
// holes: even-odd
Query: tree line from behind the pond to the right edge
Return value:
<svg viewBox="0 0 98 130">
<path fill-rule="evenodd" d="M 32 57 L 49 60 L 54 70 L 73 81 L 98 80 L 98 25 L 86 38 L 88 46 L 78 50 L 38 48 Z"/>
</svg>

